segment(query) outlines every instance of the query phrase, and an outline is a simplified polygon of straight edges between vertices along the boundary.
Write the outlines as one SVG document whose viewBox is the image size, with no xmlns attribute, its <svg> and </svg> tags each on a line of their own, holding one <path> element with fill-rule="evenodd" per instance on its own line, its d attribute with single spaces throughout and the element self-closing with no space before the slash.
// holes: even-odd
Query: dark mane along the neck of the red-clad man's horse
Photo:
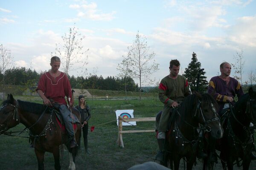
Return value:
<svg viewBox="0 0 256 170">
<path fill-rule="evenodd" d="M 42 114 L 47 107 L 46 105 L 42 105 L 39 103 L 33 103 L 33 102 L 25 102 L 22 100 L 17 100 L 19 104 L 19 108 L 22 111 L 30 112 L 30 113 L 35 113 L 35 114 Z"/>
</svg>

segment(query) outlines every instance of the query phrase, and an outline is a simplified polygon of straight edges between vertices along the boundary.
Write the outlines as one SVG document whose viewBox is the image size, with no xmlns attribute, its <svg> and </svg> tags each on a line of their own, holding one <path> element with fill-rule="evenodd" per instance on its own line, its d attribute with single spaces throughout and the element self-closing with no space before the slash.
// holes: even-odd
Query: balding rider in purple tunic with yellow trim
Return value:
<svg viewBox="0 0 256 170">
<path fill-rule="evenodd" d="M 231 65 L 228 62 L 222 62 L 220 65 L 220 76 L 215 76 L 210 79 L 208 86 L 208 93 L 213 94 L 219 105 L 218 114 L 220 117 L 227 113 L 227 109 L 230 108 L 230 104 L 234 105 L 234 97 L 238 98 L 244 95 L 244 91 L 240 83 L 230 77 Z M 251 153 L 251 159 L 256 159 L 253 153 Z"/>
</svg>

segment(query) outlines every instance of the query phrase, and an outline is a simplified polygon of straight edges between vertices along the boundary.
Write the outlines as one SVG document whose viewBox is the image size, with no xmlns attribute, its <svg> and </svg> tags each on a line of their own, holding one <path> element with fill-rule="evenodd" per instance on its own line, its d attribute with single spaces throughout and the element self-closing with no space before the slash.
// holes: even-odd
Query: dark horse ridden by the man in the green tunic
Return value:
<svg viewBox="0 0 256 170">
<path fill-rule="evenodd" d="M 174 121 L 171 122 L 166 139 L 166 152 L 163 164 L 174 163 L 174 169 L 179 169 L 180 159 L 186 158 L 187 170 L 192 170 L 198 152 L 199 124 L 219 139 L 223 130 L 216 114 L 217 103 L 209 94 L 191 94 L 187 96 L 177 110 L 173 110 Z M 203 127 L 201 127 L 203 129 Z"/>
</svg>

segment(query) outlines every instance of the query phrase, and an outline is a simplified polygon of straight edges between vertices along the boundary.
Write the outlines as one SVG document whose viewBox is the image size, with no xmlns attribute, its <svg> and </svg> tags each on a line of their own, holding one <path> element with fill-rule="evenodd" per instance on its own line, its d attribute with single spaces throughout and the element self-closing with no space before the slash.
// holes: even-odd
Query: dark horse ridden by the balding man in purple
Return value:
<svg viewBox="0 0 256 170">
<path fill-rule="evenodd" d="M 249 92 L 239 98 L 224 126 L 220 154 L 224 169 L 233 170 L 233 162 L 239 165 L 239 158 L 242 159 L 243 170 L 249 169 L 254 147 L 250 122 L 256 124 L 256 91 L 253 88 L 249 88 Z"/>
</svg>

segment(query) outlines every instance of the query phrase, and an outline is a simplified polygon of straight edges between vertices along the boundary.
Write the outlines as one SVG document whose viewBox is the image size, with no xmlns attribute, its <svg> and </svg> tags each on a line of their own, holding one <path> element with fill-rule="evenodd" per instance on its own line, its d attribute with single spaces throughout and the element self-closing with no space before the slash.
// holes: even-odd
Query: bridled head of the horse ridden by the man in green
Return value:
<svg viewBox="0 0 256 170">
<path fill-rule="evenodd" d="M 209 94 L 200 94 L 200 96 L 197 94 L 197 96 L 199 97 L 199 102 L 195 116 L 198 115 L 199 123 L 204 125 L 214 138 L 222 138 L 223 128 L 217 114 L 217 102 Z"/>
</svg>

